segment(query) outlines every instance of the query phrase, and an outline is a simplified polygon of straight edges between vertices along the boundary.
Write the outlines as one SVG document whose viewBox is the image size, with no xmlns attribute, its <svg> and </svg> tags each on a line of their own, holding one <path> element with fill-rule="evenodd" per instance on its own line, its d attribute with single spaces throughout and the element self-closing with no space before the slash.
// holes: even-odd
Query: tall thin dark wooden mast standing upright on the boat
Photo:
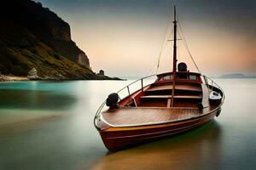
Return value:
<svg viewBox="0 0 256 170">
<path fill-rule="evenodd" d="M 176 70 L 177 70 L 177 20 L 176 20 L 176 6 L 174 6 L 174 20 L 173 20 L 173 65 L 172 65 L 172 107 L 174 99 L 174 90 L 176 82 Z"/>
</svg>

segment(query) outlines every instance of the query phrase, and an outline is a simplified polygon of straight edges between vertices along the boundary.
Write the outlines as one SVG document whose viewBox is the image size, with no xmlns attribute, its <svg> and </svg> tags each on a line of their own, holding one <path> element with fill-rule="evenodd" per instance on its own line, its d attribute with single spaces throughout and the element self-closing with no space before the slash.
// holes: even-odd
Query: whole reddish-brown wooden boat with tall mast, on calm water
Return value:
<svg viewBox="0 0 256 170">
<path fill-rule="evenodd" d="M 224 92 L 210 78 L 190 72 L 187 65 L 177 65 L 177 20 L 174 8 L 173 70 L 156 75 L 143 85 L 144 77 L 110 94 L 96 112 L 94 124 L 108 150 L 160 139 L 199 127 L 218 116 Z M 131 86 L 140 84 L 131 93 Z M 119 94 L 127 90 L 121 99 Z M 215 96 L 215 98 L 214 98 Z M 102 111 L 108 105 L 109 108 Z"/>
</svg>

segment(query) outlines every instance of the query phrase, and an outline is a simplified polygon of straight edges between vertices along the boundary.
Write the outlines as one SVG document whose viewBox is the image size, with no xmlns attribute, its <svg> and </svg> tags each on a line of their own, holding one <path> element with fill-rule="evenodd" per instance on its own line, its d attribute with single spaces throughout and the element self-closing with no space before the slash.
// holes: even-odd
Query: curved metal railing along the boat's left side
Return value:
<svg viewBox="0 0 256 170">
<path fill-rule="evenodd" d="M 155 78 L 153 79 L 153 77 L 156 77 L 156 74 L 150 75 L 148 77 L 143 77 L 143 78 L 137 79 L 136 81 L 131 82 L 130 84 L 128 84 L 124 88 L 121 88 L 118 92 L 116 92 L 116 94 L 119 95 L 119 101 L 122 100 L 122 99 L 125 99 L 128 96 L 130 96 L 132 93 L 136 92 L 137 90 L 143 91 L 146 86 L 148 86 L 149 84 L 151 84 L 155 81 Z M 146 80 L 152 80 L 153 82 L 149 82 L 149 81 L 146 81 Z M 134 86 L 136 84 L 137 84 L 137 86 L 132 88 L 132 86 Z M 105 101 L 102 103 L 102 105 L 100 105 L 100 107 L 96 111 L 95 121 L 96 121 L 96 117 L 98 117 L 100 115 L 102 109 L 106 105 L 106 102 L 107 102 L 107 99 L 105 99 Z"/>
</svg>

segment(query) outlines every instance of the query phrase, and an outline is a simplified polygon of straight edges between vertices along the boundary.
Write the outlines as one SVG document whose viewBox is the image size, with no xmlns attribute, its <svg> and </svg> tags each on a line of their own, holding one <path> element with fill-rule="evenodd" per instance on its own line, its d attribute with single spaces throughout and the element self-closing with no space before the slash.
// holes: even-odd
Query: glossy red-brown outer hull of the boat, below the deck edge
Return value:
<svg viewBox="0 0 256 170">
<path fill-rule="evenodd" d="M 162 139 L 177 133 L 183 133 L 195 127 L 199 127 L 216 116 L 220 111 L 212 111 L 207 115 L 183 120 L 148 126 L 137 127 L 108 127 L 100 130 L 102 141 L 108 150 L 120 150 L 135 144 Z"/>
</svg>

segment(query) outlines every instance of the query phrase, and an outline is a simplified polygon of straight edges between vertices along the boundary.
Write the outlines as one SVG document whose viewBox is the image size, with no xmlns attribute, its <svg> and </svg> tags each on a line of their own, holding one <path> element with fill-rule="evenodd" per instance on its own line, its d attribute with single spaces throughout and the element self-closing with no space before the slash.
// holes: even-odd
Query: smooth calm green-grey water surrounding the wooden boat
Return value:
<svg viewBox="0 0 256 170">
<path fill-rule="evenodd" d="M 115 153 L 93 117 L 128 82 L 1 82 L 0 169 L 255 169 L 256 79 L 217 82 L 226 100 L 215 121 Z"/>
</svg>

